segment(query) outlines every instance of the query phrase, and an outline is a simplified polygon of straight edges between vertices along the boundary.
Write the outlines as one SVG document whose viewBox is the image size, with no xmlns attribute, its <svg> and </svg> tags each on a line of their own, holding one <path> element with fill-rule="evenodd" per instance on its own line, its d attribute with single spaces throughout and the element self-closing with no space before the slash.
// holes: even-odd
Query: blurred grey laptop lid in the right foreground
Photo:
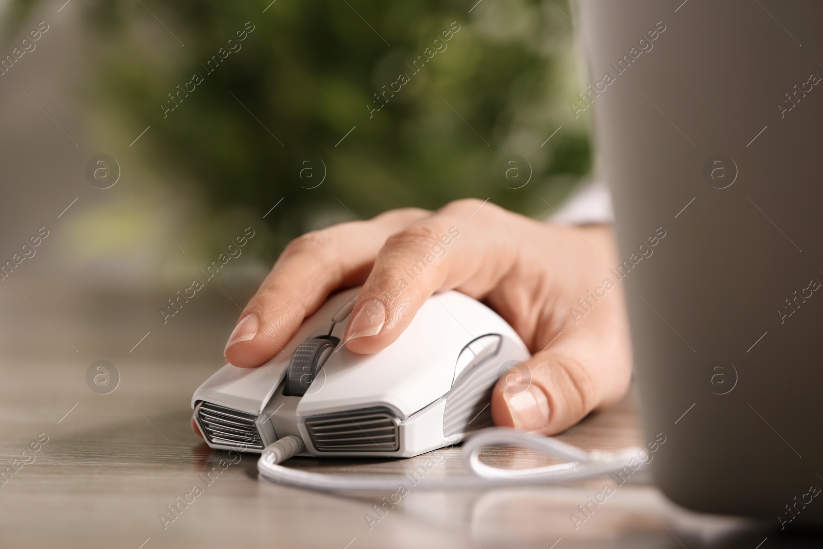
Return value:
<svg viewBox="0 0 823 549">
<path fill-rule="evenodd" d="M 823 2 L 577 8 L 654 481 L 821 523 Z"/>
</svg>

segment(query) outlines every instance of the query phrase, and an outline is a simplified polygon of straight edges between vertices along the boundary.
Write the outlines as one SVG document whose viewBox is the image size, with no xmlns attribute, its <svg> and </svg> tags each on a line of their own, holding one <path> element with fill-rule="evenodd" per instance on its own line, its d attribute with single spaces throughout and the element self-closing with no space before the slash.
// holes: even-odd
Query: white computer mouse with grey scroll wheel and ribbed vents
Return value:
<svg viewBox="0 0 823 549">
<path fill-rule="evenodd" d="M 226 364 L 194 392 L 209 446 L 259 453 L 295 435 L 302 455 L 408 458 L 491 426 L 492 387 L 531 356 L 514 328 L 446 291 L 391 345 L 359 355 L 341 342 L 359 291 L 332 295 L 271 361 Z"/>
</svg>

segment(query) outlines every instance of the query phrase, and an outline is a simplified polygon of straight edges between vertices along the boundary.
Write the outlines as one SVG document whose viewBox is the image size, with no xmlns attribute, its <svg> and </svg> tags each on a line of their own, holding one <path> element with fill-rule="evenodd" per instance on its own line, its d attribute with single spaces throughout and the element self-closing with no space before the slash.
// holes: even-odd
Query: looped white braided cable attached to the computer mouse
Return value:
<svg viewBox="0 0 823 549">
<path fill-rule="evenodd" d="M 479 454 L 488 446 L 520 446 L 535 449 L 565 463 L 528 469 L 496 468 L 481 463 Z M 480 431 L 463 444 L 461 457 L 472 475 L 414 479 L 406 475 L 337 475 L 307 472 L 280 465 L 286 459 L 305 450 L 303 440 L 288 435 L 263 450 L 258 460 L 258 472 L 273 482 L 309 488 L 317 491 L 396 490 L 410 482 L 421 490 L 458 490 L 490 488 L 518 484 L 566 482 L 595 477 L 629 467 L 639 449 L 625 449 L 620 454 L 584 452 L 570 444 L 542 435 L 494 427 Z"/>
</svg>

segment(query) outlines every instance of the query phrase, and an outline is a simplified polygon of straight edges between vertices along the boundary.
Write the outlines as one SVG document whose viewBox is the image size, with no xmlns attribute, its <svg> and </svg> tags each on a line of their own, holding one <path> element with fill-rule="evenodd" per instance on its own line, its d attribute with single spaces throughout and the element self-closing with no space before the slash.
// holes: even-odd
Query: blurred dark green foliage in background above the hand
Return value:
<svg viewBox="0 0 823 549">
<path fill-rule="evenodd" d="M 566 106 L 578 91 L 566 2 L 270 1 L 82 4 L 95 67 L 84 96 L 109 123 L 151 124 L 137 147 L 146 163 L 176 174 L 213 218 L 263 216 L 283 198 L 264 254 L 329 221 L 455 198 L 542 215 L 541 197 L 556 202 L 590 169 L 587 128 Z M 15 2 L 10 21 L 33 3 Z M 208 72 L 247 21 L 241 49 Z M 453 24 L 446 49 L 412 72 Z M 195 73 L 202 83 L 165 116 L 168 94 Z M 370 114 L 401 73 L 410 81 Z M 523 188 L 498 178 L 512 153 L 532 166 Z M 295 179 L 305 155 L 328 172 L 317 188 Z"/>
</svg>

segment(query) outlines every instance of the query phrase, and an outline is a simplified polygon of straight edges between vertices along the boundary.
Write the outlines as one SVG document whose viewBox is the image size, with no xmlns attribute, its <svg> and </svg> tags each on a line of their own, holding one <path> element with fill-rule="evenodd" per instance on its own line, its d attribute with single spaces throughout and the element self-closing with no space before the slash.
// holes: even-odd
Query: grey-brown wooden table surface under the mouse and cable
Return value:
<svg viewBox="0 0 823 549">
<path fill-rule="evenodd" d="M 608 477 L 565 486 L 412 490 L 369 525 L 365 516 L 388 494 L 332 495 L 278 486 L 258 478 L 255 454 L 244 454 L 164 528 L 158 515 L 193 484 L 203 485 L 198 474 L 226 456 L 190 430 L 189 399 L 221 365 L 235 305 L 215 292 L 214 303 L 204 298 L 187 318 L 158 328 L 155 311 L 146 307 L 153 297 L 54 292 L 32 298 L 35 311 L 22 293 L 2 294 L 0 470 L 21 458 L 40 434 L 48 442 L 28 454 L 33 463 L 0 486 L 0 547 L 755 549 L 765 537 L 761 549 L 814 547 L 805 538 L 779 539 L 741 519 L 678 509 L 641 475 L 577 528 L 570 514 Z M 96 394 L 86 385 L 86 369 L 99 359 L 118 366 L 121 381 L 113 393 Z M 560 439 L 603 450 L 642 444 L 630 398 L 589 416 Z M 459 474 L 460 450 L 439 451 L 449 459 L 430 474 Z M 379 474 L 407 472 L 421 459 L 289 463 L 321 472 Z M 508 448 L 490 450 L 484 459 L 513 468 L 545 462 L 534 452 Z"/>
</svg>

